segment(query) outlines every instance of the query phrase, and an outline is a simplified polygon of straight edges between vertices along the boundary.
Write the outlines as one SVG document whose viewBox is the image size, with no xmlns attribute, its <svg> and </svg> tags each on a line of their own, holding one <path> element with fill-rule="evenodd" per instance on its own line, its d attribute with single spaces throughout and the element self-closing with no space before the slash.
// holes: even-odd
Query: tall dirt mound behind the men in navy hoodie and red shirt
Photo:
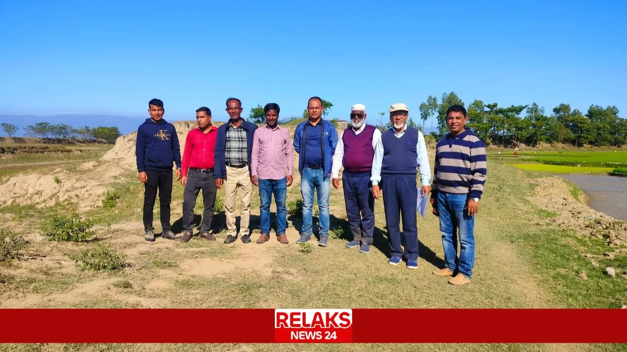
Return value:
<svg viewBox="0 0 627 352">
<path fill-rule="evenodd" d="M 223 122 L 213 122 L 213 125 L 219 126 Z M 185 140 L 187 132 L 196 127 L 195 121 L 177 121 L 172 122 L 174 128 L 176 128 L 176 135 L 179 137 L 179 143 L 181 144 L 181 156 L 185 149 Z M 111 148 L 102 159 L 105 162 L 115 162 L 117 165 L 127 169 L 134 169 L 136 167 L 135 160 L 135 142 L 137 142 L 137 132 L 129 133 L 128 135 L 120 136 L 115 141 L 115 147 Z"/>
</svg>

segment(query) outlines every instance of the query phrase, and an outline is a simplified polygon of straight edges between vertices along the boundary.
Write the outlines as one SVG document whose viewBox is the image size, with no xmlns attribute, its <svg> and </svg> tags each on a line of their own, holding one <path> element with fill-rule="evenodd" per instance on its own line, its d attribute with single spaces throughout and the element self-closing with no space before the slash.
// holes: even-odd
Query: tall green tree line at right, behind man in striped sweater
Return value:
<svg viewBox="0 0 627 352">
<path fill-rule="evenodd" d="M 439 133 L 432 134 L 439 137 L 448 133 L 446 110 L 455 104 L 465 106 L 454 91 L 444 93 L 440 102 L 429 95 L 419 106 L 423 130 L 426 120 L 435 116 Z M 586 113 L 582 113 L 561 103 L 553 108 L 551 115 L 547 115 L 544 107 L 535 102 L 502 107 L 497 103 L 474 100 L 466 110 L 467 127 L 487 144 L 503 147 L 521 144 L 533 147 L 539 143 L 569 143 L 576 147 L 627 145 L 627 120 L 618 117 L 616 106 L 591 105 Z"/>
</svg>

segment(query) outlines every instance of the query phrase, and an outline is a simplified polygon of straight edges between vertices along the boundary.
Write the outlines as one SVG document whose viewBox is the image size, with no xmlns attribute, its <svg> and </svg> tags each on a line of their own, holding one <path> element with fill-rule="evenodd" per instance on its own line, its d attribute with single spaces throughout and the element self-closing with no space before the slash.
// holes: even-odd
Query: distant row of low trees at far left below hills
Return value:
<svg viewBox="0 0 627 352">
<path fill-rule="evenodd" d="M 18 131 L 18 127 L 12 123 L 1 124 L 4 133 L 13 138 Z M 97 139 L 115 143 L 120 137 L 120 130 L 117 127 L 81 127 L 74 128 L 65 123 L 53 125 L 50 122 L 38 122 L 34 125 L 24 127 L 24 135 L 37 138 L 80 138 L 83 140 Z"/>
</svg>

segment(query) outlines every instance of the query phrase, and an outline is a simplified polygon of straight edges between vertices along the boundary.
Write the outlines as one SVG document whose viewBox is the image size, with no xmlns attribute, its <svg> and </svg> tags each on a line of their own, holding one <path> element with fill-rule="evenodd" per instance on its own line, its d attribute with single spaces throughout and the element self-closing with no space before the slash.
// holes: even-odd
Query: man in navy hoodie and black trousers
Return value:
<svg viewBox="0 0 627 352">
<path fill-rule="evenodd" d="M 176 179 L 181 179 L 181 148 L 176 128 L 163 119 L 163 101 L 150 100 L 147 118 L 137 129 L 137 172 L 144 184 L 144 239 L 154 242 L 152 211 L 157 191 L 161 213 L 161 237 L 177 239 L 170 225 L 170 202 L 172 200 L 172 163 L 176 163 Z"/>
</svg>

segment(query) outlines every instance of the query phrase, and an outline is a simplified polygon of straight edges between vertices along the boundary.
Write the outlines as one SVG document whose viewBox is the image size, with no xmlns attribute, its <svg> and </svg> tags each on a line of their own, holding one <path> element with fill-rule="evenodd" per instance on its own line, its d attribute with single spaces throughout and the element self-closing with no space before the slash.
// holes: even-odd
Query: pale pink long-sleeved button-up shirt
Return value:
<svg viewBox="0 0 627 352">
<path fill-rule="evenodd" d="M 253 136 L 251 174 L 261 180 L 282 180 L 292 175 L 294 155 L 290 132 L 277 126 L 257 128 Z"/>
</svg>

